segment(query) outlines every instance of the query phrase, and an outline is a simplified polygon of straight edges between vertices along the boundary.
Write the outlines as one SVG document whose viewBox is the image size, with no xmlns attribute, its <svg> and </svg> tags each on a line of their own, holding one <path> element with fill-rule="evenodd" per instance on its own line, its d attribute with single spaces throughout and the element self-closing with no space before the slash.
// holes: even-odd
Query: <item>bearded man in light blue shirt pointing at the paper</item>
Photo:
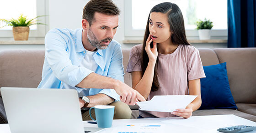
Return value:
<svg viewBox="0 0 256 133">
<path fill-rule="evenodd" d="M 112 0 L 90 0 L 83 10 L 83 29 L 50 30 L 45 36 L 45 61 L 38 88 L 76 89 L 81 108 L 110 104 L 115 106 L 114 119 L 131 118 L 127 104 L 145 99 L 123 83 L 121 47 L 112 40 L 118 15 Z M 122 102 L 117 102 L 119 97 Z M 83 120 L 91 120 L 89 111 L 82 115 Z"/>
</svg>

